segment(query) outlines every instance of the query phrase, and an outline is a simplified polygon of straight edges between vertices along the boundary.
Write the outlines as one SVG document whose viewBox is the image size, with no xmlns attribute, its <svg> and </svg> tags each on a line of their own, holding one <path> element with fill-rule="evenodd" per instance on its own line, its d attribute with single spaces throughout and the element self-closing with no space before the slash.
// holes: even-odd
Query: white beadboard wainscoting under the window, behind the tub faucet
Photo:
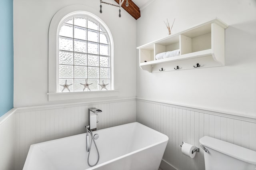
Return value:
<svg viewBox="0 0 256 170">
<path fill-rule="evenodd" d="M 15 115 L 15 170 L 22 170 L 31 144 L 86 132 L 88 108 L 102 110 L 98 129 L 136 121 L 136 99 L 18 108 Z"/>
</svg>

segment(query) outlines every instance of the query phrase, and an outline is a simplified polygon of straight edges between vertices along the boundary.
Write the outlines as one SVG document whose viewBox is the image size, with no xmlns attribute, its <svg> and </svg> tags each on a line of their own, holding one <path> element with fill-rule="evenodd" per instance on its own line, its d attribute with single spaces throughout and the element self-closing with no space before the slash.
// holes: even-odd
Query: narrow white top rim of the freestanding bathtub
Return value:
<svg viewBox="0 0 256 170">
<path fill-rule="evenodd" d="M 160 142 L 156 142 L 156 143 L 154 143 L 154 144 L 150 144 L 150 145 L 148 145 L 148 146 L 145 146 L 145 147 L 140 148 L 140 149 L 138 149 L 138 150 L 134 150 L 134 151 L 129 152 L 129 153 L 127 153 L 127 154 L 124 154 L 124 155 L 122 155 L 122 156 L 118 156 L 117 158 L 114 158 L 114 159 L 112 159 L 112 160 L 108 160 L 108 161 L 106 161 L 106 162 L 102 162 L 101 164 L 98 164 L 98 165 L 96 165 L 96 166 L 90 167 L 90 168 L 85 169 L 85 170 L 93 170 L 94 168 L 98 168 L 98 167 L 100 167 L 100 166 L 104 166 L 104 165 L 109 164 L 109 163 L 111 163 L 111 162 L 114 162 L 114 161 L 116 161 L 116 160 L 120 160 L 120 159 L 125 158 L 125 157 L 127 157 L 127 156 L 130 156 L 130 155 L 132 155 L 132 154 L 138 153 L 138 152 L 140 152 L 140 151 L 142 151 L 142 150 L 146 150 L 146 149 L 148 149 L 148 148 L 152 148 L 153 146 L 162 144 L 162 143 L 164 143 L 164 142 L 167 143 L 168 140 L 169 140 L 169 138 L 168 138 L 168 136 L 166 136 L 166 134 L 163 134 L 163 133 L 161 133 L 161 132 L 158 132 L 157 130 L 154 130 L 154 129 L 152 129 L 152 128 L 150 128 L 150 127 L 147 127 L 147 126 L 145 126 L 145 125 L 143 125 L 143 124 L 141 124 L 141 123 L 138 123 L 138 122 L 126 123 L 126 124 L 117 125 L 117 126 L 114 126 L 114 127 L 103 128 L 103 129 L 100 129 L 100 130 L 95 130 L 95 131 L 93 131 L 93 132 L 98 132 L 98 131 L 107 130 L 107 129 L 111 129 L 111 128 L 116 128 L 116 127 L 120 127 L 120 126 L 124 126 L 124 125 L 129 125 L 129 124 L 137 124 L 137 125 L 141 125 L 141 126 L 143 126 L 143 127 L 146 127 L 146 128 L 148 128 L 148 129 L 150 129 L 150 130 L 153 130 L 153 131 L 156 132 L 157 134 L 160 134 L 161 136 L 164 137 L 164 139 L 163 139 L 163 140 L 160 140 Z M 58 139 L 54 139 L 54 140 L 62 140 L 62 139 L 65 139 L 65 138 L 71 138 L 71 137 L 73 137 L 73 136 L 80 136 L 80 135 L 84 135 L 84 134 L 86 134 L 86 133 L 76 134 L 76 135 L 67 136 L 67 137 L 64 137 L 64 138 L 58 138 Z M 23 169 L 27 169 L 27 168 L 28 168 L 28 162 L 29 162 L 29 160 L 30 160 L 31 157 L 32 157 L 32 156 L 31 156 L 32 148 L 36 147 L 36 145 L 38 145 L 38 144 L 43 144 L 43 143 L 46 144 L 46 143 L 52 142 L 52 141 L 54 141 L 54 140 L 48 140 L 48 141 L 45 141 L 45 142 L 40 142 L 40 143 L 36 143 L 36 144 L 30 145 L 30 148 L 29 148 L 29 151 L 28 151 L 28 155 L 27 155 L 27 157 L 26 157 L 26 161 L 25 161 L 25 164 L 24 164 L 24 166 L 23 166 Z M 40 147 L 39 147 L 39 148 L 40 148 Z M 27 162 L 27 160 L 28 160 L 28 162 Z"/>
</svg>

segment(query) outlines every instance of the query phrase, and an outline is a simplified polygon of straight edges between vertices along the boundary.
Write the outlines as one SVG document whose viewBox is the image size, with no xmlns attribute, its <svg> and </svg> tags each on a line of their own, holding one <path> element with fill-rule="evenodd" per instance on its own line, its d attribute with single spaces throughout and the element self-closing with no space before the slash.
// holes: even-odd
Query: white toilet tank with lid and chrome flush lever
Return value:
<svg viewBox="0 0 256 170">
<path fill-rule="evenodd" d="M 200 138 L 206 170 L 256 170 L 256 152 L 209 136 Z"/>
</svg>

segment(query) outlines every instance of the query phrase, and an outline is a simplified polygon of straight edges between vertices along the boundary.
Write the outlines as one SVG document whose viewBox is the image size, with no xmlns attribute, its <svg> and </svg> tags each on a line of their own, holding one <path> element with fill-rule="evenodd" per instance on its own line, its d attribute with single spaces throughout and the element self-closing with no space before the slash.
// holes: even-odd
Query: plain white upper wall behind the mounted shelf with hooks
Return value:
<svg viewBox="0 0 256 170">
<path fill-rule="evenodd" d="M 137 46 L 220 18 L 225 30 L 226 66 L 148 73 L 138 65 L 137 97 L 256 117 L 256 1 L 154 0 L 137 20 Z"/>
</svg>

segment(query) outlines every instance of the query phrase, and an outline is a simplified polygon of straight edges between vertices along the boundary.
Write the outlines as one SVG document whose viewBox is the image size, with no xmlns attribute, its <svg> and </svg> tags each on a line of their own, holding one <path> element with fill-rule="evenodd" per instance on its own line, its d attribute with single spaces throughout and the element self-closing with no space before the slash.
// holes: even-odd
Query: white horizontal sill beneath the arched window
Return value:
<svg viewBox="0 0 256 170">
<path fill-rule="evenodd" d="M 47 93 L 48 101 L 114 97 L 118 96 L 118 94 L 119 90 Z"/>
</svg>

